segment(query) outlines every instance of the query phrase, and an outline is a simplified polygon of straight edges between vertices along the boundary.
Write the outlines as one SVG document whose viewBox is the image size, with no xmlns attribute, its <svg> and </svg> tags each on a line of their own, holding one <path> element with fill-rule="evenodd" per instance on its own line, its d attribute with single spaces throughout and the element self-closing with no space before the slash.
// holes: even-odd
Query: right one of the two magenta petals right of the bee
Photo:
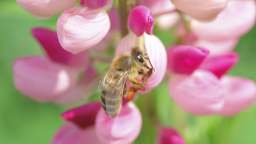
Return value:
<svg viewBox="0 0 256 144">
<path fill-rule="evenodd" d="M 203 70 L 208 70 L 220 78 L 230 68 L 232 68 L 236 62 L 238 62 L 238 54 L 229 53 L 218 56 L 207 57 L 200 66 Z"/>
</svg>

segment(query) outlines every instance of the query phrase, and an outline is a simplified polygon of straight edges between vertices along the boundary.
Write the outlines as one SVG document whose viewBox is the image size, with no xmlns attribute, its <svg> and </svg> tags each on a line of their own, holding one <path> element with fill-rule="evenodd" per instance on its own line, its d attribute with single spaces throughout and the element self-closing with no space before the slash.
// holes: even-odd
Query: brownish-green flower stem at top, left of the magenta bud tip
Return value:
<svg viewBox="0 0 256 144">
<path fill-rule="evenodd" d="M 128 18 L 128 11 L 127 11 L 127 0 L 119 0 L 119 14 L 120 14 L 120 22 L 121 22 L 121 32 L 122 37 L 128 34 L 127 28 L 127 18 Z"/>
</svg>

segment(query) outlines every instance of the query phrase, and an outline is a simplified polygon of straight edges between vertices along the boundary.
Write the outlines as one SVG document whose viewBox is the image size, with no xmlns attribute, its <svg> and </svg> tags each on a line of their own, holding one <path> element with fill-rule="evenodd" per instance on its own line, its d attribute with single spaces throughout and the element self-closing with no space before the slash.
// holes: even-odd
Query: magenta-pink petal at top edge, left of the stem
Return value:
<svg viewBox="0 0 256 144">
<path fill-rule="evenodd" d="M 108 3 L 113 3 L 113 0 L 80 0 L 80 5 L 89 9 L 104 8 Z"/>
</svg>

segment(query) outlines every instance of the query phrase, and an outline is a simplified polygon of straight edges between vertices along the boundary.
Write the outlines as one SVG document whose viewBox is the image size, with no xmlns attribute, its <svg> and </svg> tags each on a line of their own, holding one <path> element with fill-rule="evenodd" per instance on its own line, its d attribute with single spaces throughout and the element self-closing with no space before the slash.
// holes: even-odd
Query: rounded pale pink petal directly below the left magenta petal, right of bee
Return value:
<svg viewBox="0 0 256 144">
<path fill-rule="evenodd" d="M 196 70 L 192 75 L 175 75 L 169 83 L 174 101 L 195 115 L 218 112 L 224 104 L 224 88 L 219 79 L 206 70 Z"/>
</svg>

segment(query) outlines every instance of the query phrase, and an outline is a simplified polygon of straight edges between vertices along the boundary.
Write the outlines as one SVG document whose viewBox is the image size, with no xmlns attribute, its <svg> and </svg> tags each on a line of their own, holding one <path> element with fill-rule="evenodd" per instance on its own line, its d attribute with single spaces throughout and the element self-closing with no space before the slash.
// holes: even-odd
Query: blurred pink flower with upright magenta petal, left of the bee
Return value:
<svg viewBox="0 0 256 144">
<path fill-rule="evenodd" d="M 15 87 L 40 102 L 67 104 L 81 100 L 83 87 L 96 77 L 96 70 L 88 66 L 87 52 L 73 55 L 63 50 L 56 32 L 45 28 L 34 28 L 32 34 L 47 56 L 17 59 L 13 64 Z"/>
</svg>

